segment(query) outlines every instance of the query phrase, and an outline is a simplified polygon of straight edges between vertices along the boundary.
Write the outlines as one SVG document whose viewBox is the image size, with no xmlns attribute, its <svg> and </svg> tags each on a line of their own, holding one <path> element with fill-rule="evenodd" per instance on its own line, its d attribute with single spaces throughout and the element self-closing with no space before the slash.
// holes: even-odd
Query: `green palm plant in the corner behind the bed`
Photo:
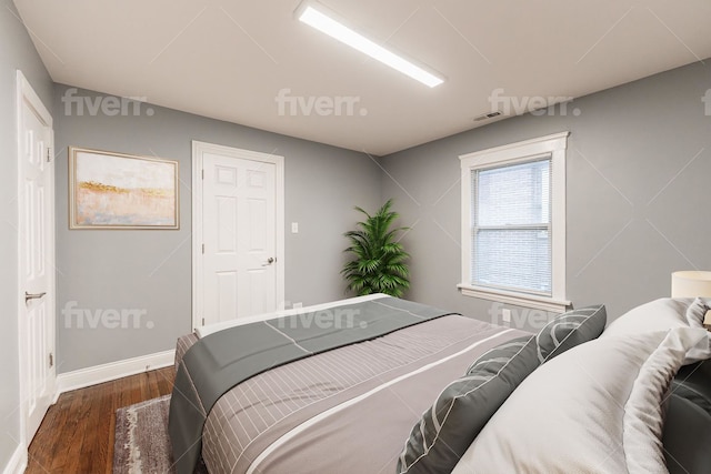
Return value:
<svg viewBox="0 0 711 474">
<path fill-rule="evenodd" d="M 357 230 L 343 234 L 350 240 L 344 252 L 353 260 L 346 263 L 341 274 L 348 281 L 348 290 L 358 295 L 385 293 L 400 297 L 410 288 L 410 271 L 404 263 L 410 255 L 397 239 L 408 228 L 390 229 L 400 216 L 391 206 L 392 199 L 373 215 L 357 206 L 367 219 L 356 224 Z"/>
</svg>

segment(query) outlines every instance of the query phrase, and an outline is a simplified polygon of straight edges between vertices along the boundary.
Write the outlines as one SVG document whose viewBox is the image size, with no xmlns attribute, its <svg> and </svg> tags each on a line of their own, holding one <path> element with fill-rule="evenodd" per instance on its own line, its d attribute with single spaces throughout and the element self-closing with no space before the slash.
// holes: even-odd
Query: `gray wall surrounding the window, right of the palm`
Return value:
<svg viewBox="0 0 711 474">
<path fill-rule="evenodd" d="M 614 319 L 669 296 L 672 271 L 710 269 L 711 97 L 708 114 L 702 102 L 710 79 L 711 68 L 695 63 L 578 99 L 567 113 L 555 108 L 384 157 L 393 180 L 383 178 L 383 198 L 395 196 L 404 224 L 414 224 L 403 240 L 413 255 L 408 297 L 501 321 L 499 306 L 455 286 L 458 157 L 564 130 L 567 292 L 575 306 L 604 303 Z"/>
</svg>

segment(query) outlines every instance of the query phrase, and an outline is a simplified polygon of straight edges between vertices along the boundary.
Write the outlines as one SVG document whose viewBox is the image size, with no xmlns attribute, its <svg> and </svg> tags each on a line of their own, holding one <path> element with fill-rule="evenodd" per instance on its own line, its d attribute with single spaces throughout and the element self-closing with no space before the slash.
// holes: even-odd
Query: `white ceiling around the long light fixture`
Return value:
<svg viewBox="0 0 711 474">
<path fill-rule="evenodd" d="M 434 89 L 300 23 L 300 0 L 14 3 L 56 82 L 375 155 L 488 123 L 495 89 L 577 98 L 711 57 L 709 0 L 321 0 Z M 358 102 L 280 114 L 284 89 Z"/>
</svg>

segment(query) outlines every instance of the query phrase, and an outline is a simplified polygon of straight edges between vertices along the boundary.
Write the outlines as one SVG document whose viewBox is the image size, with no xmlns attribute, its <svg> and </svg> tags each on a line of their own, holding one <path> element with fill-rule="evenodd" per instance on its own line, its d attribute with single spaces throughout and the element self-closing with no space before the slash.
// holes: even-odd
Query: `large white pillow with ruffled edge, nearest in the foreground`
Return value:
<svg viewBox="0 0 711 474">
<path fill-rule="evenodd" d="M 571 349 L 523 381 L 453 474 L 667 473 L 667 393 L 705 337 L 705 330 L 680 327 Z"/>
</svg>

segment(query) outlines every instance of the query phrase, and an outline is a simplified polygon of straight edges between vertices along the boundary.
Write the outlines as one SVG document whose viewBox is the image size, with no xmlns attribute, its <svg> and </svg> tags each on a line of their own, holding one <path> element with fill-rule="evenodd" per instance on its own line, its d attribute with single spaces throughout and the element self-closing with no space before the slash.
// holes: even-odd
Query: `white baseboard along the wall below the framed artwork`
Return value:
<svg viewBox="0 0 711 474">
<path fill-rule="evenodd" d="M 126 361 L 111 362 L 93 367 L 80 369 L 57 376 L 57 395 L 54 401 L 64 392 L 84 389 L 103 382 L 110 382 L 141 372 L 172 365 L 176 360 L 176 350 L 127 359 Z"/>
</svg>

